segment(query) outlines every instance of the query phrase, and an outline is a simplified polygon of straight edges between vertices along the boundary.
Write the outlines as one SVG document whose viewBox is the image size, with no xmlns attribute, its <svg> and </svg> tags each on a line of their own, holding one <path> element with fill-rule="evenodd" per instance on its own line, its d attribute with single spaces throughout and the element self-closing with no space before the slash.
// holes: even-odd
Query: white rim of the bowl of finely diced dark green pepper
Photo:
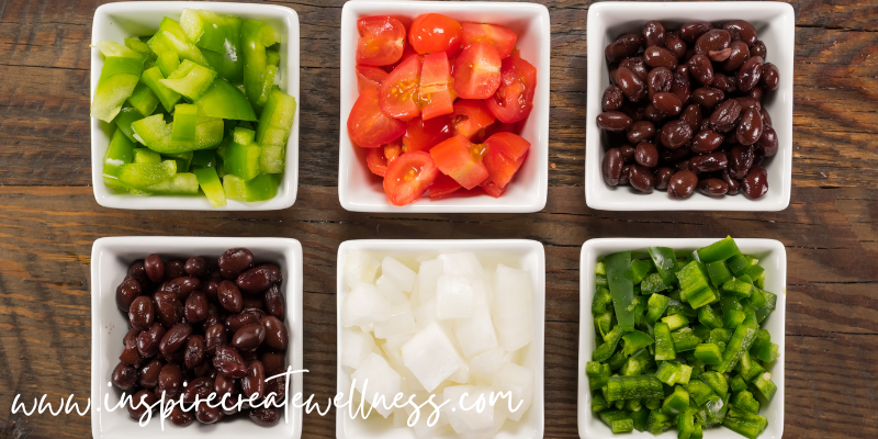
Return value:
<svg viewBox="0 0 878 439">
<path fill-rule="evenodd" d="M 722 238 L 593 238 L 583 244 L 579 251 L 579 331 L 578 331 L 578 361 L 577 361 L 577 406 L 576 418 L 577 429 L 582 439 L 612 439 L 614 435 L 601 437 L 593 430 L 588 429 L 588 423 L 595 418 L 590 410 L 592 392 L 588 387 L 588 379 L 585 375 L 585 363 L 590 360 L 592 352 L 586 348 L 584 341 L 587 337 L 594 335 L 594 316 L 592 315 L 592 299 L 594 297 L 594 281 L 595 281 L 595 263 L 601 257 L 605 257 L 615 251 L 638 251 L 645 254 L 646 247 L 662 246 L 671 247 L 675 251 L 694 250 L 716 243 Z M 778 345 L 780 357 L 772 365 L 775 376 L 779 376 L 775 381 L 777 385 L 777 393 L 775 394 L 772 404 L 774 409 L 770 412 L 761 412 L 762 415 L 769 418 L 772 425 L 776 425 L 777 436 L 767 436 L 763 432 L 762 437 L 766 439 L 780 439 L 784 436 L 784 412 L 786 408 L 784 390 L 786 380 L 786 306 L 787 306 L 787 250 L 783 243 L 776 239 L 764 238 L 734 238 L 735 244 L 744 252 L 754 254 L 768 254 L 770 260 L 776 262 L 777 278 L 783 285 L 783 291 L 775 292 L 777 294 L 777 307 L 772 313 L 772 317 L 779 318 L 780 334 L 772 334 L 772 341 Z M 766 260 L 766 259 L 763 259 Z M 778 404 L 779 403 L 779 404 Z M 719 437 L 722 439 L 732 439 L 740 437 L 731 430 L 710 430 L 711 437 Z M 729 434 L 725 436 L 724 434 Z M 597 435 L 597 436 L 596 436 Z M 654 438 L 655 436 L 645 432 L 633 432 L 633 437 Z M 666 435 L 666 434 L 665 434 Z M 657 436 L 665 438 L 665 435 Z M 707 436 L 707 434 L 705 435 Z M 671 438 L 672 436 L 667 436 Z"/>
</svg>

